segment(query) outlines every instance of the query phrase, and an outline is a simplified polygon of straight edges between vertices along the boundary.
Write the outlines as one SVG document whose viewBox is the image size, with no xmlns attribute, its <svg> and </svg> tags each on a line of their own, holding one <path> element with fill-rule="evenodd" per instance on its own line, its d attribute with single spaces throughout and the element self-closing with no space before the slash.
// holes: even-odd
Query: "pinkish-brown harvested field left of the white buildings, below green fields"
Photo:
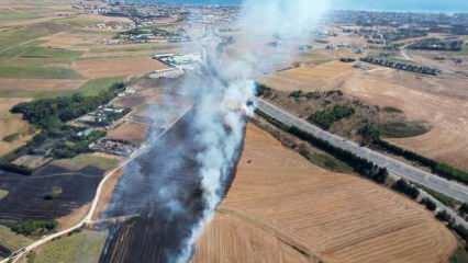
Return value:
<svg viewBox="0 0 468 263">
<path fill-rule="evenodd" d="M 166 66 L 149 57 L 125 57 L 85 59 L 76 61 L 73 66 L 81 76 L 89 79 L 143 75 Z"/>
</svg>

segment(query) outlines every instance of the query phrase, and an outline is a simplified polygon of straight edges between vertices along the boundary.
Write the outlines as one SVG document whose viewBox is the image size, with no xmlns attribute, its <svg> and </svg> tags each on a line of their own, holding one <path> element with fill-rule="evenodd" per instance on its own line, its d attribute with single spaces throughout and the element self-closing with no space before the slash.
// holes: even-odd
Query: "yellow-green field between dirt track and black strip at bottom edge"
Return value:
<svg viewBox="0 0 468 263">
<path fill-rule="evenodd" d="M 97 263 L 105 238 L 107 232 L 82 230 L 45 244 L 29 263 Z"/>
</svg>

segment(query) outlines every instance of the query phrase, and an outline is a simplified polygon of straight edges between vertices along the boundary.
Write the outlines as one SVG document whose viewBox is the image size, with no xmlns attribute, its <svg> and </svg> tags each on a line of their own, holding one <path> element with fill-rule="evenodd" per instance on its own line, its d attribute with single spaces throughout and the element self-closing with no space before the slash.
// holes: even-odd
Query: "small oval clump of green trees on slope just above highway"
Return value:
<svg viewBox="0 0 468 263">
<path fill-rule="evenodd" d="M 350 117 L 355 110 L 348 105 L 335 105 L 331 108 L 317 111 L 308 121 L 316 124 L 323 129 L 330 129 L 332 125 L 343 118 Z"/>
</svg>

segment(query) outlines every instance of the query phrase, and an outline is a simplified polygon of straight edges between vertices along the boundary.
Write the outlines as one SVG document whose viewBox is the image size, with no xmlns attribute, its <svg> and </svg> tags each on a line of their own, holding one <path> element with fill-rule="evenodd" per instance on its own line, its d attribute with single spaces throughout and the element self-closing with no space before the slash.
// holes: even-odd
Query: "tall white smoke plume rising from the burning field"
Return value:
<svg viewBox="0 0 468 263">
<path fill-rule="evenodd" d="M 222 198 L 223 182 L 233 169 L 233 159 L 243 144 L 245 116 L 253 113 L 254 79 L 272 70 L 277 61 L 292 62 L 298 45 L 308 44 L 326 0 L 246 0 L 234 26 L 239 28 L 235 43 L 220 53 L 222 39 L 211 35 L 199 43 L 205 61 L 202 87 L 189 91 L 198 94 L 194 117 L 197 141 L 203 146 L 197 160 L 205 210 L 194 226 L 176 262 L 188 262 L 203 227 L 211 220 Z M 268 44 L 274 48 L 266 53 Z M 232 49 L 231 49 L 232 48 Z"/>
</svg>

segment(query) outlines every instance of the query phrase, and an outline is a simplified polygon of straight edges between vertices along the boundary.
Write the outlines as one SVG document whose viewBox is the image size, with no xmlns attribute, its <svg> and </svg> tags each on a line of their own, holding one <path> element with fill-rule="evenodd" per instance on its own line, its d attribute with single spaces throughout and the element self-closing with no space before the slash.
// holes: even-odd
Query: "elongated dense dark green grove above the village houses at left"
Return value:
<svg viewBox="0 0 468 263">
<path fill-rule="evenodd" d="M 70 96 L 35 100 L 20 103 L 15 105 L 11 112 L 23 114 L 24 119 L 43 129 L 51 129 L 57 127 L 60 123 L 71 121 L 96 111 L 100 105 L 114 99 L 124 89 L 125 84 L 119 82 L 96 96 L 83 96 L 76 93 Z"/>
</svg>

